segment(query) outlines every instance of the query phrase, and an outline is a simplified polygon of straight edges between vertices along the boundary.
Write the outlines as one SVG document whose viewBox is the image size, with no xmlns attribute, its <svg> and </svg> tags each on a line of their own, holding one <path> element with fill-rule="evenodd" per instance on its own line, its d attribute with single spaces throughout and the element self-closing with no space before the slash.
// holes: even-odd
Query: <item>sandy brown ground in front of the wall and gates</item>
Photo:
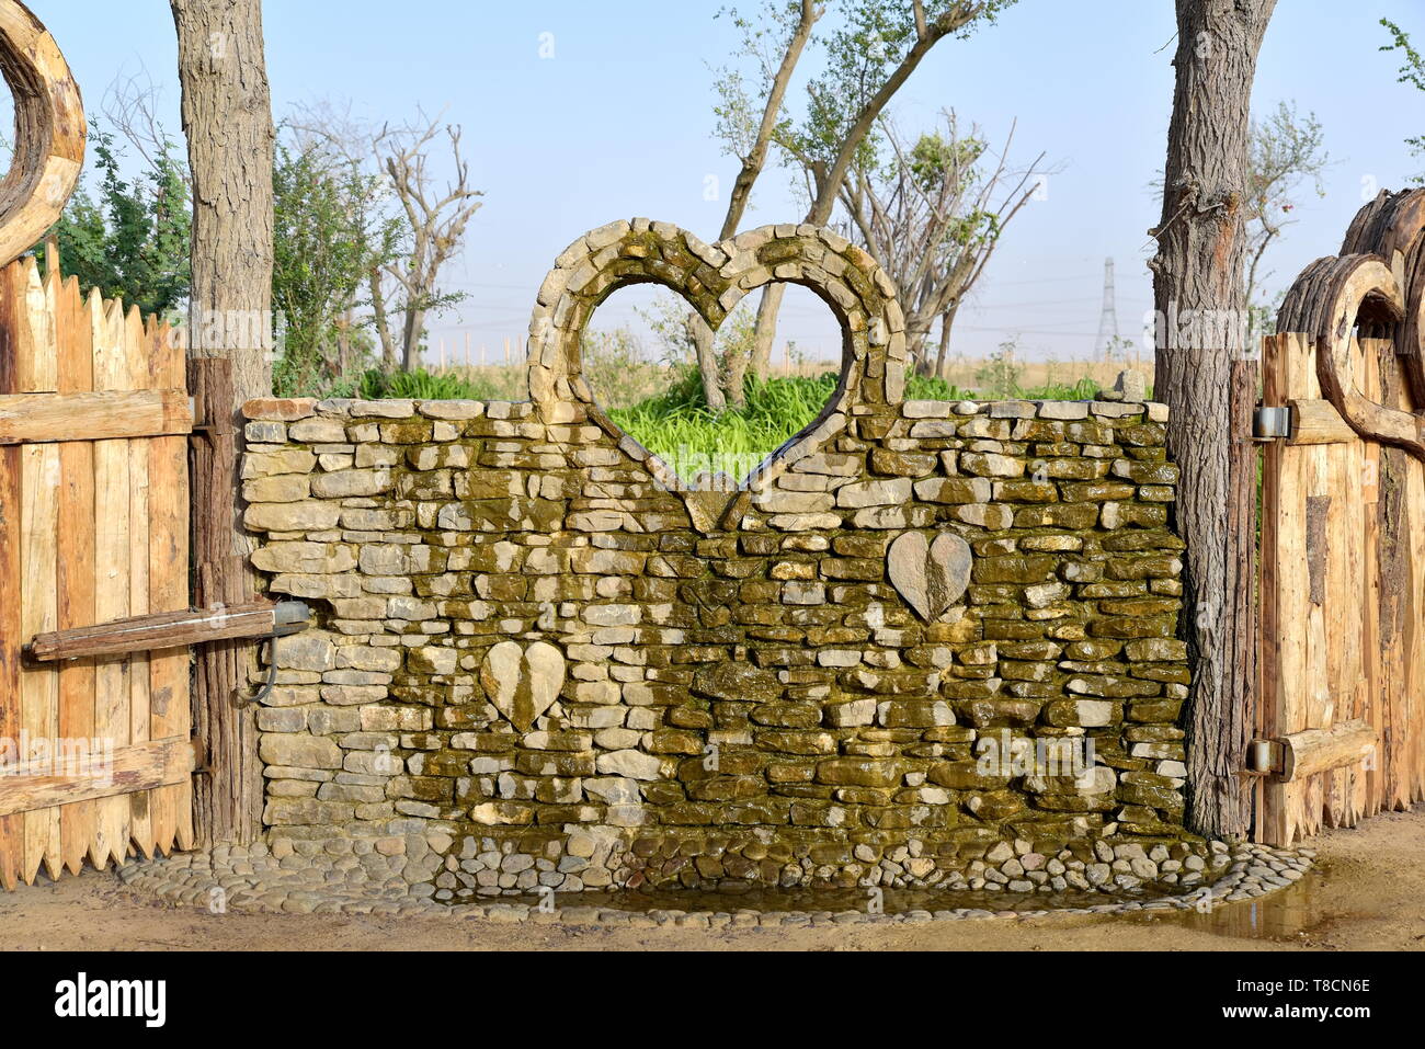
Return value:
<svg viewBox="0 0 1425 1049">
<path fill-rule="evenodd" d="M 113 874 L 0 892 L 0 949 L 781 949 L 781 951 L 1419 951 L 1425 948 L 1425 807 L 1328 831 L 1322 871 L 1210 916 L 1062 918 L 724 929 L 561 928 L 439 918 L 211 915 L 155 902 Z"/>
</svg>

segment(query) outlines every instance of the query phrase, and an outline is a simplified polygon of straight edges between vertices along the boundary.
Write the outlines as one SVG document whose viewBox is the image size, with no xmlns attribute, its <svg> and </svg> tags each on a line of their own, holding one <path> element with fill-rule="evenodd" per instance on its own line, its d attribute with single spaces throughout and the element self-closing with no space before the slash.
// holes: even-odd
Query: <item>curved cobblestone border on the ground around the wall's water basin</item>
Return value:
<svg viewBox="0 0 1425 1049">
<path fill-rule="evenodd" d="M 247 914 L 356 914 L 356 915 L 447 915 L 457 919 L 493 922 L 536 922 L 547 925 L 617 925 L 654 928 L 677 925 L 691 928 L 745 928 L 797 925 L 925 924 L 932 921 L 968 921 L 988 918 L 1043 918 L 1052 914 L 1134 914 L 1140 911 L 1201 909 L 1204 888 L 1194 887 L 1181 895 L 1116 899 L 1090 906 L 1013 908 L 992 911 L 978 906 L 953 909 L 908 909 L 895 914 L 866 911 L 630 911 L 590 904 L 567 904 L 542 909 L 524 902 L 445 904 L 435 899 L 432 882 L 408 882 L 402 877 L 403 854 L 386 855 L 372 847 L 358 854 L 342 854 L 333 842 L 315 854 L 285 851 L 276 855 L 264 844 L 252 847 L 219 845 L 211 852 L 184 852 L 171 857 L 138 859 L 118 868 L 120 881 L 130 888 L 158 896 L 180 906 Z M 372 845 L 372 842 L 361 842 Z M 1227 847 L 1213 842 L 1221 869 L 1207 885 L 1206 901 L 1211 908 L 1257 899 L 1290 888 L 1311 869 L 1315 849 L 1282 849 L 1264 845 Z M 353 875 L 359 871 L 359 875 Z M 382 877 L 385 871 L 385 877 Z M 693 894 L 690 894 L 693 895 Z M 1029 901 L 1017 901 L 1029 902 Z"/>
</svg>

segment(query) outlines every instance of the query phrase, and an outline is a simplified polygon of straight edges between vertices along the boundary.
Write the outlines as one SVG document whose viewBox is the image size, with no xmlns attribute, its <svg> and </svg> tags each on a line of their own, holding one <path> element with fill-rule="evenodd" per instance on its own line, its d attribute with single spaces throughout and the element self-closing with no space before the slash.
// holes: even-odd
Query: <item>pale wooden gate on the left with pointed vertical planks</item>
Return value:
<svg viewBox="0 0 1425 1049">
<path fill-rule="evenodd" d="M 192 837 L 190 656 L 36 663 L 37 634 L 188 610 L 184 352 L 137 308 L 0 269 L 0 882 Z M 6 750 L 7 748 L 7 750 Z"/>
</svg>

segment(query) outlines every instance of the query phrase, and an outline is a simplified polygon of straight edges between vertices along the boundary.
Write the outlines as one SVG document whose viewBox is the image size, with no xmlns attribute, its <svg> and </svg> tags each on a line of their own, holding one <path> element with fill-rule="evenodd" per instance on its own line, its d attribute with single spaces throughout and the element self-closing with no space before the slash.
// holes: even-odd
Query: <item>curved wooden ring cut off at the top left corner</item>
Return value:
<svg viewBox="0 0 1425 1049">
<path fill-rule="evenodd" d="M 44 237 L 84 162 L 84 103 L 44 24 L 19 0 L 0 0 L 0 73 L 14 97 L 14 160 L 0 181 L 0 264 Z"/>
</svg>

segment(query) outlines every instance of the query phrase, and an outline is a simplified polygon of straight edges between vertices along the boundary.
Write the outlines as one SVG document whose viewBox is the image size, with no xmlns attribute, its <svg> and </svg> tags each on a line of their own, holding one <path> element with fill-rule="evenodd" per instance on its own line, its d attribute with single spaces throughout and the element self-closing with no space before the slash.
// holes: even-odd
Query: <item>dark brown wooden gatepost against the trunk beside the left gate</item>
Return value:
<svg viewBox="0 0 1425 1049">
<path fill-rule="evenodd" d="M 200 607 L 255 600 L 247 559 L 232 549 L 238 490 L 237 429 L 232 415 L 232 363 L 222 358 L 188 362 L 194 415 L 204 426 L 192 439 L 194 603 Z M 251 644 L 224 640 L 197 651 L 192 725 L 208 775 L 194 781 L 198 845 L 248 844 L 262 830 L 262 764 L 256 718 L 232 701 L 245 687 Z"/>
</svg>

